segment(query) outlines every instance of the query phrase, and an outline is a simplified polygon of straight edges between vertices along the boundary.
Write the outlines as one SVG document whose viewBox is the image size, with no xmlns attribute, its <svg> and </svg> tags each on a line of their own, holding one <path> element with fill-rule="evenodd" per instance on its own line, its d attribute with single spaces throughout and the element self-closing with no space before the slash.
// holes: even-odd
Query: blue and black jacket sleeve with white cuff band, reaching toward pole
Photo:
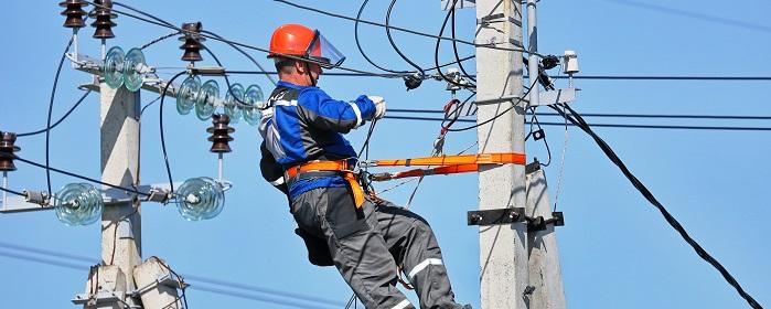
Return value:
<svg viewBox="0 0 771 309">
<path fill-rule="evenodd" d="M 298 115 L 317 129 L 347 134 L 375 116 L 375 104 L 364 95 L 353 102 L 336 100 L 313 87 L 300 93 Z"/>
</svg>

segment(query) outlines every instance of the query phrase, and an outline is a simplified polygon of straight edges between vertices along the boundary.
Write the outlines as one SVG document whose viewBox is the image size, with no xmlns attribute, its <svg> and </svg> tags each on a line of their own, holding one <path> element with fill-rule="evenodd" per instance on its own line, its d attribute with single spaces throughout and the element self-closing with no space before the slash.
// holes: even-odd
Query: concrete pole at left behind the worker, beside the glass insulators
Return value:
<svg viewBox="0 0 771 309">
<path fill-rule="evenodd" d="M 126 87 L 110 88 L 106 83 L 99 85 L 101 103 L 101 181 L 132 188 L 139 183 L 139 92 L 131 93 Z M 107 189 L 107 188 L 104 188 Z M 133 290 L 133 267 L 141 263 L 141 215 L 140 202 L 135 199 L 129 203 L 106 204 L 101 214 L 101 264 L 104 270 L 117 266 L 120 271 L 103 271 L 121 274 L 115 278 L 98 281 L 121 280 L 115 287 L 125 287 L 126 291 Z M 135 213 L 135 207 L 137 212 Z M 132 214 L 133 213 L 133 214 Z M 126 219 L 124 219 L 126 217 Z M 121 220 L 122 219 L 122 220 Z M 94 280 L 95 278 L 89 278 Z M 120 296 L 120 291 L 116 291 Z M 128 305 L 136 303 L 130 297 L 122 297 Z M 108 307 L 124 308 L 120 301 Z M 88 306 L 86 306 L 88 307 Z M 88 307 L 92 308 L 92 307 Z"/>
</svg>

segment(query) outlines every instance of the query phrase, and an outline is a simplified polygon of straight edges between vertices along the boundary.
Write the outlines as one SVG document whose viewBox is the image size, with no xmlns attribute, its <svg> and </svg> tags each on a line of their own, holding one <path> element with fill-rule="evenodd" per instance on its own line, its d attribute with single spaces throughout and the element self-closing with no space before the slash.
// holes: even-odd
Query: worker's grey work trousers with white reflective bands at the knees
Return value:
<svg viewBox="0 0 771 309">
<path fill-rule="evenodd" d="M 420 308 L 460 308 L 431 227 L 392 203 L 356 209 L 349 188 L 319 188 L 291 201 L 300 228 L 326 241 L 340 274 L 370 309 L 415 308 L 396 288 L 397 265 Z"/>
</svg>

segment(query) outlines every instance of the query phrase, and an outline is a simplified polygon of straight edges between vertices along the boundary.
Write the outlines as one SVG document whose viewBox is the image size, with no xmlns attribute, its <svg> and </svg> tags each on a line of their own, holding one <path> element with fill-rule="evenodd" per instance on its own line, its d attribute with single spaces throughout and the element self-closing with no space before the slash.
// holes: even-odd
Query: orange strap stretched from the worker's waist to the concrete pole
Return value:
<svg viewBox="0 0 771 309">
<path fill-rule="evenodd" d="M 463 156 L 426 157 L 398 160 L 375 160 L 368 162 L 374 167 L 394 166 L 440 166 L 431 169 L 413 169 L 393 173 L 373 173 L 370 180 L 387 181 L 407 177 L 424 177 L 432 174 L 467 173 L 479 171 L 482 164 L 521 164 L 526 162 L 523 153 L 479 153 Z"/>
</svg>

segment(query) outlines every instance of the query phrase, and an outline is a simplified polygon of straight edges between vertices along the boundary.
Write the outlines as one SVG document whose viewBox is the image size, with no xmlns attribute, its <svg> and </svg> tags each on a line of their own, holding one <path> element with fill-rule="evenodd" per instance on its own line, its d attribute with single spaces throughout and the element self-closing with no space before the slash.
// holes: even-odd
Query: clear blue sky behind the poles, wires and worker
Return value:
<svg viewBox="0 0 771 309">
<path fill-rule="evenodd" d="M 371 1 L 364 17 L 383 21 L 389 1 Z M 301 1 L 334 12 L 355 15 L 358 1 Z M 575 50 L 585 75 L 718 75 L 769 76 L 771 3 L 746 1 L 632 1 L 587 0 L 539 3 L 542 53 Z M 375 71 L 357 53 L 353 23 L 300 11 L 274 1 L 131 1 L 175 24 L 202 21 L 204 29 L 258 46 L 267 46 L 277 25 L 301 22 L 318 26 L 347 55 L 346 65 Z M 56 1 L 12 1 L 0 11 L 4 44 L 0 49 L 0 130 L 17 132 L 45 126 L 49 94 L 55 65 L 69 30 Z M 395 25 L 437 33 L 443 12 L 439 0 L 399 1 Z M 128 50 L 168 33 L 127 17 L 116 21 L 116 39 L 108 44 Z M 473 9 L 458 15 L 458 35 L 471 40 Z M 378 64 L 409 70 L 387 43 L 381 28 L 361 25 L 365 50 Z M 93 29 L 82 32 L 82 53 L 96 56 Z M 433 62 L 435 41 L 395 32 L 399 46 L 422 66 Z M 228 46 L 207 41 L 228 68 L 255 70 Z M 181 43 L 167 40 L 146 50 L 150 65 L 179 67 Z M 441 57 L 451 58 L 450 45 Z M 473 50 L 461 46 L 460 53 Z M 264 54 L 251 52 L 263 64 Z M 204 54 L 203 65 L 213 65 Z M 470 65 L 473 70 L 473 65 Z M 162 71 L 169 78 L 173 70 Z M 556 74 L 556 72 L 555 72 Z M 56 93 L 54 118 L 82 95 L 76 88 L 90 76 L 67 66 Z M 218 79 L 224 84 L 224 81 Z M 234 76 L 233 82 L 259 84 L 261 76 Z M 360 94 L 382 95 L 390 108 L 438 109 L 449 98 L 445 85 L 426 82 L 409 93 L 400 81 L 325 77 L 320 85 L 339 98 Z M 572 106 L 581 113 L 771 115 L 768 82 L 609 82 L 578 81 L 582 89 Z M 565 86 L 559 81 L 558 86 Z M 142 93 L 142 102 L 156 96 Z M 52 166 L 98 178 L 98 97 L 92 95 L 52 134 Z M 210 153 L 208 122 L 180 116 L 167 102 L 165 135 L 174 179 L 215 175 L 216 157 Z M 141 166 L 144 183 L 165 181 L 158 138 L 158 106 L 142 118 Z M 545 110 L 544 110 L 545 111 Z M 558 119 L 542 119 L 558 121 Z M 596 122 L 764 126 L 763 121 L 693 121 L 589 119 Z M 286 200 L 259 175 L 257 130 L 236 125 L 234 152 L 225 158 L 225 175 L 235 187 L 227 192 L 222 214 L 204 222 L 186 222 L 173 205 L 147 203 L 142 209 L 144 257 L 157 255 L 174 269 L 191 276 L 291 291 L 345 302 L 351 292 L 333 268 L 318 268 L 306 260 L 304 247 L 292 233 L 295 223 Z M 426 156 L 439 131 L 437 122 L 386 120 L 372 141 L 373 157 Z M 771 166 L 768 132 L 673 131 L 598 128 L 632 171 L 681 221 L 709 253 L 720 260 L 761 305 L 771 306 L 771 216 L 767 198 Z M 349 137 L 361 145 L 364 131 Z M 546 168 L 550 198 L 559 174 L 565 130 L 546 129 L 554 156 Z M 474 131 L 450 135 L 448 151 L 461 150 L 476 138 Z M 44 160 L 43 136 L 20 139 L 19 154 Z M 628 183 L 596 145 L 576 129 L 568 131 L 565 174 L 558 209 L 566 226 L 558 228 L 563 278 L 571 308 L 745 308 L 746 303 L 720 275 L 704 263 Z M 543 143 L 528 142 L 531 157 L 546 160 Z M 17 163 L 10 188 L 44 190 L 40 169 Z M 76 180 L 54 174 L 53 187 Z M 389 184 L 382 184 L 381 189 Z M 404 204 L 414 184 L 385 194 Z M 457 297 L 479 305 L 479 245 L 476 228 L 465 226 L 465 212 L 476 205 L 476 175 L 426 179 L 413 210 L 433 226 L 442 245 Z M 68 308 L 69 299 L 84 291 L 87 262 L 34 255 L 82 269 L 34 263 L 32 256 L 8 244 L 24 245 L 99 258 L 99 227 L 67 227 L 53 212 L 0 215 L 0 307 Z M 205 285 L 191 278 L 191 308 L 296 308 L 255 300 L 280 299 L 268 294 Z M 251 299 L 213 294 L 201 288 L 227 289 Z M 311 302 L 303 302 L 313 308 Z"/>
</svg>

